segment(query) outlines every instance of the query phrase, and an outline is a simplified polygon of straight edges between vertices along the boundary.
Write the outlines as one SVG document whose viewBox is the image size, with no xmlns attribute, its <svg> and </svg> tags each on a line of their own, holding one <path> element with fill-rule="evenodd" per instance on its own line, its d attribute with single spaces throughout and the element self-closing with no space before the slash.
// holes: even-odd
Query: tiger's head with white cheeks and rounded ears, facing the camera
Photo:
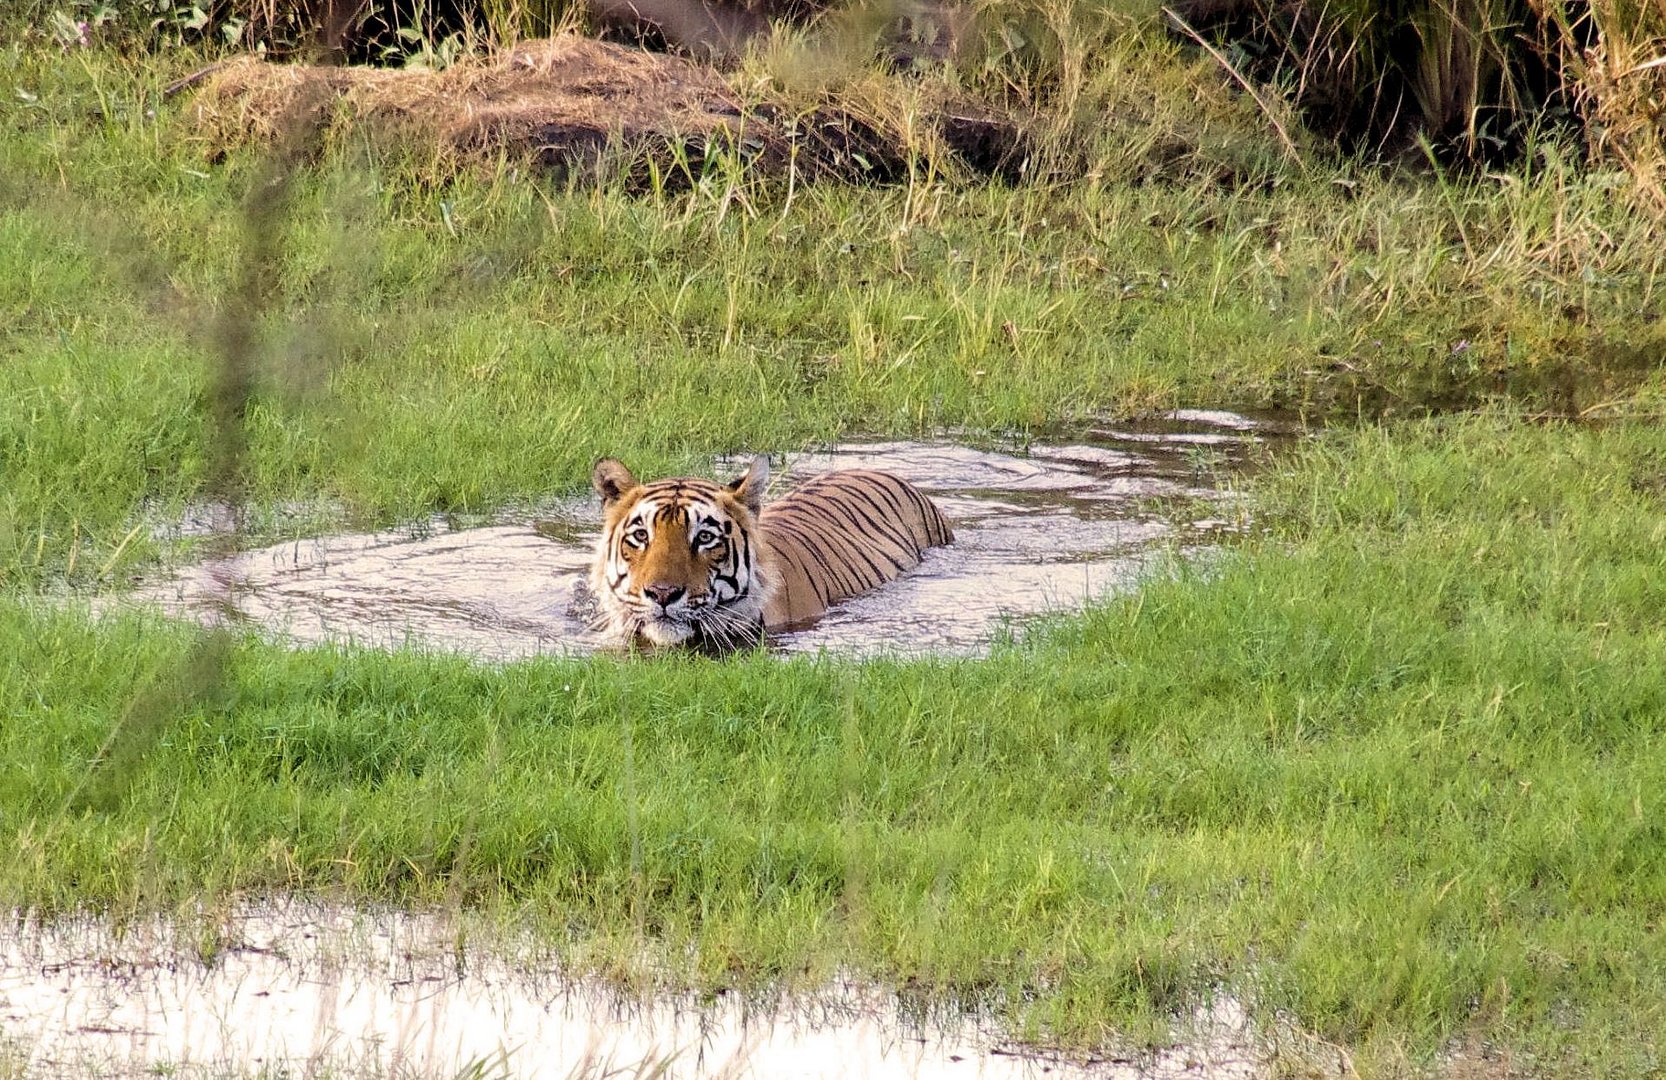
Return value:
<svg viewBox="0 0 1666 1080">
<path fill-rule="evenodd" d="M 638 483 L 623 463 L 601 458 L 591 483 L 605 517 L 591 587 L 610 637 L 715 650 L 760 638 L 770 600 L 758 542 L 768 458 L 726 485 Z"/>
</svg>

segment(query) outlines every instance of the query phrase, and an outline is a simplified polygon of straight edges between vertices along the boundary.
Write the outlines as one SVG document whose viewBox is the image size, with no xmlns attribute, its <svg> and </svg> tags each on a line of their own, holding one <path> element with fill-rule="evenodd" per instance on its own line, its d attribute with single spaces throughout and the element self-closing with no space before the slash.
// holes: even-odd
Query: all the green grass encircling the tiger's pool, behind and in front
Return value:
<svg viewBox="0 0 1666 1080">
<path fill-rule="evenodd" d="M 621 977 L 853 968 L 1073 1043 L 1228 988 L 1371 1073 L 1658 1072 L 1658 225 L 1554 142 L 1294 162 L 1210 62 L 1113 60 L 1186 138 L 1108 125 L 1020 188 L 631 198 L 348 138 L 252 302 L 263 165 L 162 97 L 192 58 L 3 47 L 0 903 L 466 903 Z M 981 662 L 486 668 L 93 618 L 210 490 L 228 310 L 263 530 L 490 512 L 600 453 L 1338 423 L 1253 493 L 1269 532 Z"/>
</svg>

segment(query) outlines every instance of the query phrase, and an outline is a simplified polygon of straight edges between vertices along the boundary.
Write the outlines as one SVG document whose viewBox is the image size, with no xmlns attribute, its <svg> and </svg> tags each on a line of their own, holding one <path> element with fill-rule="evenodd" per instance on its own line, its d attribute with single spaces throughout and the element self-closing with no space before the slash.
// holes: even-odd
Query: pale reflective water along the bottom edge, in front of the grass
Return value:
<svg viewBox="0 0 1666 1080">
<path fill-rule="evenodd" d="M 858 983 L 751 1003 L 625 998 L 535 950 L 460 945 L 478 938 L 440 915 L 252 905 L 213 937 L 223 945 L 203 963 L 210 935 L 163 922 L 117 935 L 92 920 L 7 920 L 0 1072 L 10 1060 L 40 1077 L 1246 1080 L 1281 1058 L 1230 998 L 1181 1018 L 1175 1047 L 1083 1058 Z"/>
</svg>

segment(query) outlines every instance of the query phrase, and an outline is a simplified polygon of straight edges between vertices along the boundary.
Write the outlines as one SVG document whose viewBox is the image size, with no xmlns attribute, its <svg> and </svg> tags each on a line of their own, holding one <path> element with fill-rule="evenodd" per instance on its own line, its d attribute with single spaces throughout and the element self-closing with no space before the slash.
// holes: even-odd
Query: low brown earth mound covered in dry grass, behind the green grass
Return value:
<svg viewBox="0 0 1666 1080">
<path fill-rule="evenodd" d="M 510 158 L 556 177 L 623 175 L 633 187 L 686 185 L 715 157 L 765 175 L 865 183 L 906 178 L 913 150 L 1013 180 L 1030 160 L 1023 128 L 981 103 L 943 103 L 935 145 L 910 147 L 863 110 L 748 100 L 708 65 L 578 35 L 438 72 L 247 57 L 203 78 L 190 120 L 213 155 L 293 130 L 363 130 L 453 165 Z"/>
</svg>

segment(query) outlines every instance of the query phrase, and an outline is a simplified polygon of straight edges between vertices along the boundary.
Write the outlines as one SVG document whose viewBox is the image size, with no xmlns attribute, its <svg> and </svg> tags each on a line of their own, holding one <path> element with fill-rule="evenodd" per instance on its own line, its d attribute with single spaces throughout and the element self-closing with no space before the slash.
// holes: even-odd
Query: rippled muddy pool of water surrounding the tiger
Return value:
<svg viewBox="0 0 1666 1080">
<path fill-rule="evenodd" d="M 925 488 L 956 538 L 776 645 L 975 653 L 1003 627 L 1126 587 L 1161 545 L 1203 547 L 1233 528 L 1223 482 L 1286 433 L 1236 413 L 1180 412 L 1068 445 L 883 442 L 796 455 L 775 493 L 835 468 L 883 468 Z M 485 528 L 430 522 L 290 542 L 188 567 L 138 598 L 212 618 L 230 588 L 238 618 L 300 642 L 410 642 L 490 658 L 588 652 L 600 645 L 585 585 L 598 517 L 593 500 L 573 500 Z"/>
</svg>

